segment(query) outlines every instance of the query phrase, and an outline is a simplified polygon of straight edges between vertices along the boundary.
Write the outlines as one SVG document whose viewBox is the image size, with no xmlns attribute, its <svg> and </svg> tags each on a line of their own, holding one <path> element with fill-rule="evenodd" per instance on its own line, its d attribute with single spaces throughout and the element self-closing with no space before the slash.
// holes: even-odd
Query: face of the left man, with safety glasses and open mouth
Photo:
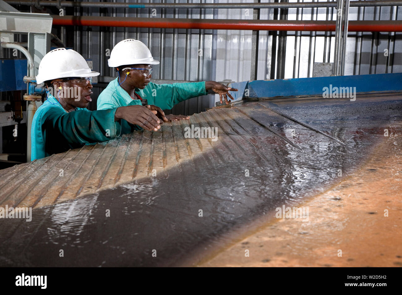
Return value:
<svg viewBox="0 0 402 295">
<path fill-rule="evenodd" d="M 88 107 L 89 102 L 92 101 L 92 85 L 88 83 L 86 86 L 78 86 L 71 83 L 71 81 L 54 81 L 54 97 L 59 100 L 62 107 L 70 112 L 75 110 L 75 108 L 86 108 Z M 59 87 L 62 87 L 62 90 L 59 90 Z M 66 88 L 64 88 L 66 87 Z M 73 89 L 74 92 L 64 91 L 67 87 L 73 87 L 68 89 Z M 57 93 L 57 91 L 59 92 Z"/>
</svg>

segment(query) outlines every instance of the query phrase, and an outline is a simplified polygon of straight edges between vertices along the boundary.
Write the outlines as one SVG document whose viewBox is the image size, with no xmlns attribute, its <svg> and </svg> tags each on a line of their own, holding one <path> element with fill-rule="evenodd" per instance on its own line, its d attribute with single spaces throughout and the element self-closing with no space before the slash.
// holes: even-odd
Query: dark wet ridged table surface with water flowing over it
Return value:
<svg viewBox="0 0 402 295">
<path fill-rule="evenodd" d="M 21 181 L 17 168 L 9 169 L 0 177 L 0 206 L 36 207 L 31 222 L 0 219 L 0 266 L 175 266 L 202 257 L 230 242 L 227 233 L 272 218 L 276 207 L 297 204 L 354 171 L 384 141 L 384 129 L 400 132 L 401 110 L 400 94 L 355 102 L 260 100 L 209 110 L 166 124 L 158 134 L 133 134 L 142 136 L 136 149 L 124 137 L 108 150 L 67 152 L 82 163 L 73 173 L 80 177 L 63 184 L 64 194 L 77 191 L 71 198 L 63 199 L 59 189 L 61 197 L 50 197 L 59 181 L 50 177 L 52 165 L 57 171 L 59 165 L 52 161 L 59 158 L 35 167 L 31 176 L 45 175 L 49 183 L 38 181 L 43 188 L 25 198 L 8 187 Z M 189 124 L 217 127 L 218 140 L 185 138 Z M 102 159 L 100 153 L 110 157 L 109 170 L 96 176 L 102 161 L 88 161 Z M 117 161 L 122 168 L 113 168 Z M 120 183 L 129 179 L 126 171 L 131 181 Z"/>
</svg>

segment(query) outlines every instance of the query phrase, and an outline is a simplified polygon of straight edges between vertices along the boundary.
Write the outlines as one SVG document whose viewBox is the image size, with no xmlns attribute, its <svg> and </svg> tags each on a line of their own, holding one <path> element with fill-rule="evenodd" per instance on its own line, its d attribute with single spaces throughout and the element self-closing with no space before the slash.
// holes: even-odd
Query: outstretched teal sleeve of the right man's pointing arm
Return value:
<svg viewBox="0 0 402 295">
<path fill-rule="evenodd" d="M 205 90 L 205 81 L 173 84 L 155 84 L 150 82 L 150 84 L 152 91 L 156 90 L 155 105 L 162 108 L 162 110 L 171 109 L 179 102 L 208 93 Z"/>
</svg>

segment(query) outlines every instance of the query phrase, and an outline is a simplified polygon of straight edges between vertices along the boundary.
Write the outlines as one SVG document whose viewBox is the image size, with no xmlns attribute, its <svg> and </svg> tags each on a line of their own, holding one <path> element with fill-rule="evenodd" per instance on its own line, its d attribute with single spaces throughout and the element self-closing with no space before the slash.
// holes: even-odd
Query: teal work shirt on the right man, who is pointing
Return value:
<svg viewBox="0 0 402 295">
<path fill-rule="evenodd" d="M 114 79 L 99 94 L 97 109 L 106 110 L 119 108 L 121 106 L 131 106 L 141 104 L 141 100 L 134 100 L 119 85 L 119 78 Z M 148 83 L 144 89 L 135 88 L 135 93 L 142 99 L 146 99 L 148 104 L 160 107 L 162 110 L 170 110 L 175 104 L 188 100 L 189 98 L 206 95 L 205 81 L 192 83 L 173 83 L 173 84 L 155 84 Z M 121 120 L 121 134 L 127 134 L 138 129 L 125 120 Z"/>
</svg>

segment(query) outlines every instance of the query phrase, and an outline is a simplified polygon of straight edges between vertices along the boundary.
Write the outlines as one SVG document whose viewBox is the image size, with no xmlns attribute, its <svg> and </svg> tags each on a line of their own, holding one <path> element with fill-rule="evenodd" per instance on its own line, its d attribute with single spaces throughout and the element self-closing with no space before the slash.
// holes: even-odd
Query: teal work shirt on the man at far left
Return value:
<svg viewBox="0 0 402 295">
<path fill-rule="evenodd" d="M 119 121 L 115 122 L 116 110 L 91 112 L 76 108 L 67 112 L 54 96 L 49 95 L 33 116 L 31 161 L 119 136 L 121 125 Z"/>
</svg>

